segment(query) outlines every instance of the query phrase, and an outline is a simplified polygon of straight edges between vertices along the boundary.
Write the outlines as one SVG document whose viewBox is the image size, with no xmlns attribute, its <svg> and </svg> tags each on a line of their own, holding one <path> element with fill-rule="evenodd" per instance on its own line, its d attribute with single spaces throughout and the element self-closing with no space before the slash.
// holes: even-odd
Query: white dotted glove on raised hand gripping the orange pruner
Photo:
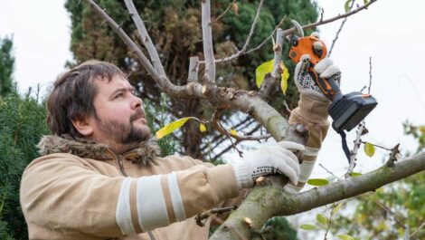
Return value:
<svg viewBox="0 0 425 240">
<path fill-rule="evenodd" d="M 316 38 L 318 35 L 313 33 Z M 320 42 L 314 44 L 316 50 L 323 49 L 323 45 Z M 319 101 L 328 101 L 325 94 L 320 91 L 313 77 L 308 73 L 308 67 L 310 66 L 310 56 L 304 54 L 301 56 L 294 72 L 294 82 L 297 85 L 297 89 L 300 93 L 304 93 L 307 96 L 312 97 L 313 99 Z M 341 71 L 339 67 L 332 62 L 329 58 L 324 58 L 323 60 L 316 63 L 315 71 L 319 74 L 321 78 L 330 78 L 334 77 L 336 84 L 339 86 L 341 82 Z"/>
</svg>

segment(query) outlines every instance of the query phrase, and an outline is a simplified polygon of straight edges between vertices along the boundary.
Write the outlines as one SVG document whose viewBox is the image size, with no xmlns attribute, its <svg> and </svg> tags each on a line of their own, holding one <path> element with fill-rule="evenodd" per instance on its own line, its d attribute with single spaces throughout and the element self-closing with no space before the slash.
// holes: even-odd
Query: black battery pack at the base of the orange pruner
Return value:
<svg viewBox="0 0 425 240">
<path fill-rule="evenodd" d="M 369 94 L 354 91 L 335 97 L 327 110 L 331 115 L 332 128 L 339 132 L 341 130 L 352 130 L 360 121 L 371 112 L 378 102 Z"/>
</svg>

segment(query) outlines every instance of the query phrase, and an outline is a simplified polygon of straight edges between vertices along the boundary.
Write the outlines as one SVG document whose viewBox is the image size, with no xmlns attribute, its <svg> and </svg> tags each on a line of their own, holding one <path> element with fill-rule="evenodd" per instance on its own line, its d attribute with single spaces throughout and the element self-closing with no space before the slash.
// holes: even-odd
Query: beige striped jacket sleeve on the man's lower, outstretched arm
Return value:
<svg viewBox="0 0 425 240">
<path fill-rule="evenodd" d="M 238 194 L 231 165 L 194 166 L 141 178 L 108 177 L 70 154 L 34 160 L 21 183 L 21 205 L 29 224 L 109 237 L 168 226 Z"/>
</svg>

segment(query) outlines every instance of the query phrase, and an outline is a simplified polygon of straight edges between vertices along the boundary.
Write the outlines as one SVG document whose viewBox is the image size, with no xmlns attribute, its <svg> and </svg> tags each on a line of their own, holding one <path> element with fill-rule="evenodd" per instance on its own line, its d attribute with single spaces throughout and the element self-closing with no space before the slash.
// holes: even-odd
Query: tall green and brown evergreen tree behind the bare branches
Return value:
<svg viewBox="0 0 425 240">
<path fill-rule="evenodd" d="M 241 49 L 245 43 L 247 35 L 250 33 L 250 26 L 260 1 L 241 1 L 231 5 L 231 10 L 223 14 L 229 6 L 229 1 L 213 1 L 212 15 L 222 17 L 213 20 L 213 42 L 215 58 L 219 59 L 235 53 L 235 49 Z M 161 62 L 164 64 L 165 73 L 170 82 L 177 85 L 187 83 L 189 57 L 198 56 L 203 59 L 203 43 L 201 29 L 201 1 L 193 0 L 168 0 L 134 1 L 137 11 L 143 15 L 146 22 L 148 34 L 155 43 L 156 51 Z M 139 91 L 143 99 L 151 104 L 159 105 L 161 90 L 153 81 L 152 76 L 146 69 L 137 62 L 137 57 L 125 43 L 118 38 L 98 14 L 94 14 L 88 5 L 81 5 L 79 1 L 69 0 L 66 8 L 71 14 L 72 34 L 71 52 L 74 53 L 75 63 L 80 63 L 92 58 L 115 62 L 118 66 L 129 73 L 130 81 L 139 86 Z M 133 39 L 138 38 L 135 24 L 130 15 L 127 14 L 126 5 L 122 1 L 102 0 L 99 6 L 105 9 L 109 15 L 120 24 L 122 29 L 129 33 Z M 317 18 L 316 4 L 310 0 L 289 0 L 266 1 L 260 13 L 259 23 L 253 34 L 248 50 L 262 43 L 279 25 L 283 16 L 288 19 L 297 19 L 301 24 L 313 23 Z M 288 28 L 290 23 L 281 25 Z M 308 30 L 312 31 L 312 29 Z M 307 33 L 308 34 L 308 33 Z M 142 50 L 146 53 L 146 49 Z M 255 54 L 243 54 L 241 57 L 231 62 L 223 62 L 217 71 L 217 85 L 226 87 L 236 87 L 246 90 L 256 90 L 255 69 L 262 62 L 273 58 L 271 51 L 271 41 L 269 40 Z M 284 46 L 284 54 L 288 53 L 288 45 Z M 70 63 L 72 64 L 72 63 Z M 293 72 L 294 64 L 285 59 L 285 64 L 290 72 Z M 201 66 L 200 72 L 203 72 Z M 290 85 L 285 101 L 289 108 L 297 105 L 297 90 L 294 85 Z M 270 99 L 273 107 L 279 110 L 282 115 L 288 116 L 288 111 L 284 108 L 282 94 L 278 90 L 272 91 Z M 202 99 L 181 100 L 169 98 L 167 101 L 167 111 L 171 113 L 172 120 L 187 116 L 198 119 L 210 120 L 213 115 L 213 107 Z M 241 120 L 233 118 L 231 113 L 225 111 L 222 114 L 222 124 L 227 129 L 259 129 L 256 122 L 250 117 L 243 116 Z M 182 132 L 176 133 L 179 137 L 181 148 L 179 151 L 194 158 L 206 158 L 211 142 L 220 142 L 226 137 L 222 134 L 213 133 L 205 136 L 198 129 L 198 123 L 190 121 L 184 125 Z M 219 156 L 210 155 L 208 157 L 217 158 Z"/>
</svg>

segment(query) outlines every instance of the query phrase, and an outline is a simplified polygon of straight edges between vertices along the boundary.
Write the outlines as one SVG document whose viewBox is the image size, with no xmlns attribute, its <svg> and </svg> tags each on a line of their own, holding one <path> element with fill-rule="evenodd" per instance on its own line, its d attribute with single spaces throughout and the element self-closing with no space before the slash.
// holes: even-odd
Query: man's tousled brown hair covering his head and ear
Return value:
<svg viewBox="0 0 425 240">
<path fill-rule="evenodd" d="M 47 104 L 47 125 L 56 135 L 70 134 L 81 137 L 72 125 L 72 120 L 82 120 L 96 115 L 93 100 L 96 96 L 94 81 L 107 80 L 115 75 L 126 77 L 116 65 L 90 60 L 61 74 L 53 84 Z"/>
</svg>

